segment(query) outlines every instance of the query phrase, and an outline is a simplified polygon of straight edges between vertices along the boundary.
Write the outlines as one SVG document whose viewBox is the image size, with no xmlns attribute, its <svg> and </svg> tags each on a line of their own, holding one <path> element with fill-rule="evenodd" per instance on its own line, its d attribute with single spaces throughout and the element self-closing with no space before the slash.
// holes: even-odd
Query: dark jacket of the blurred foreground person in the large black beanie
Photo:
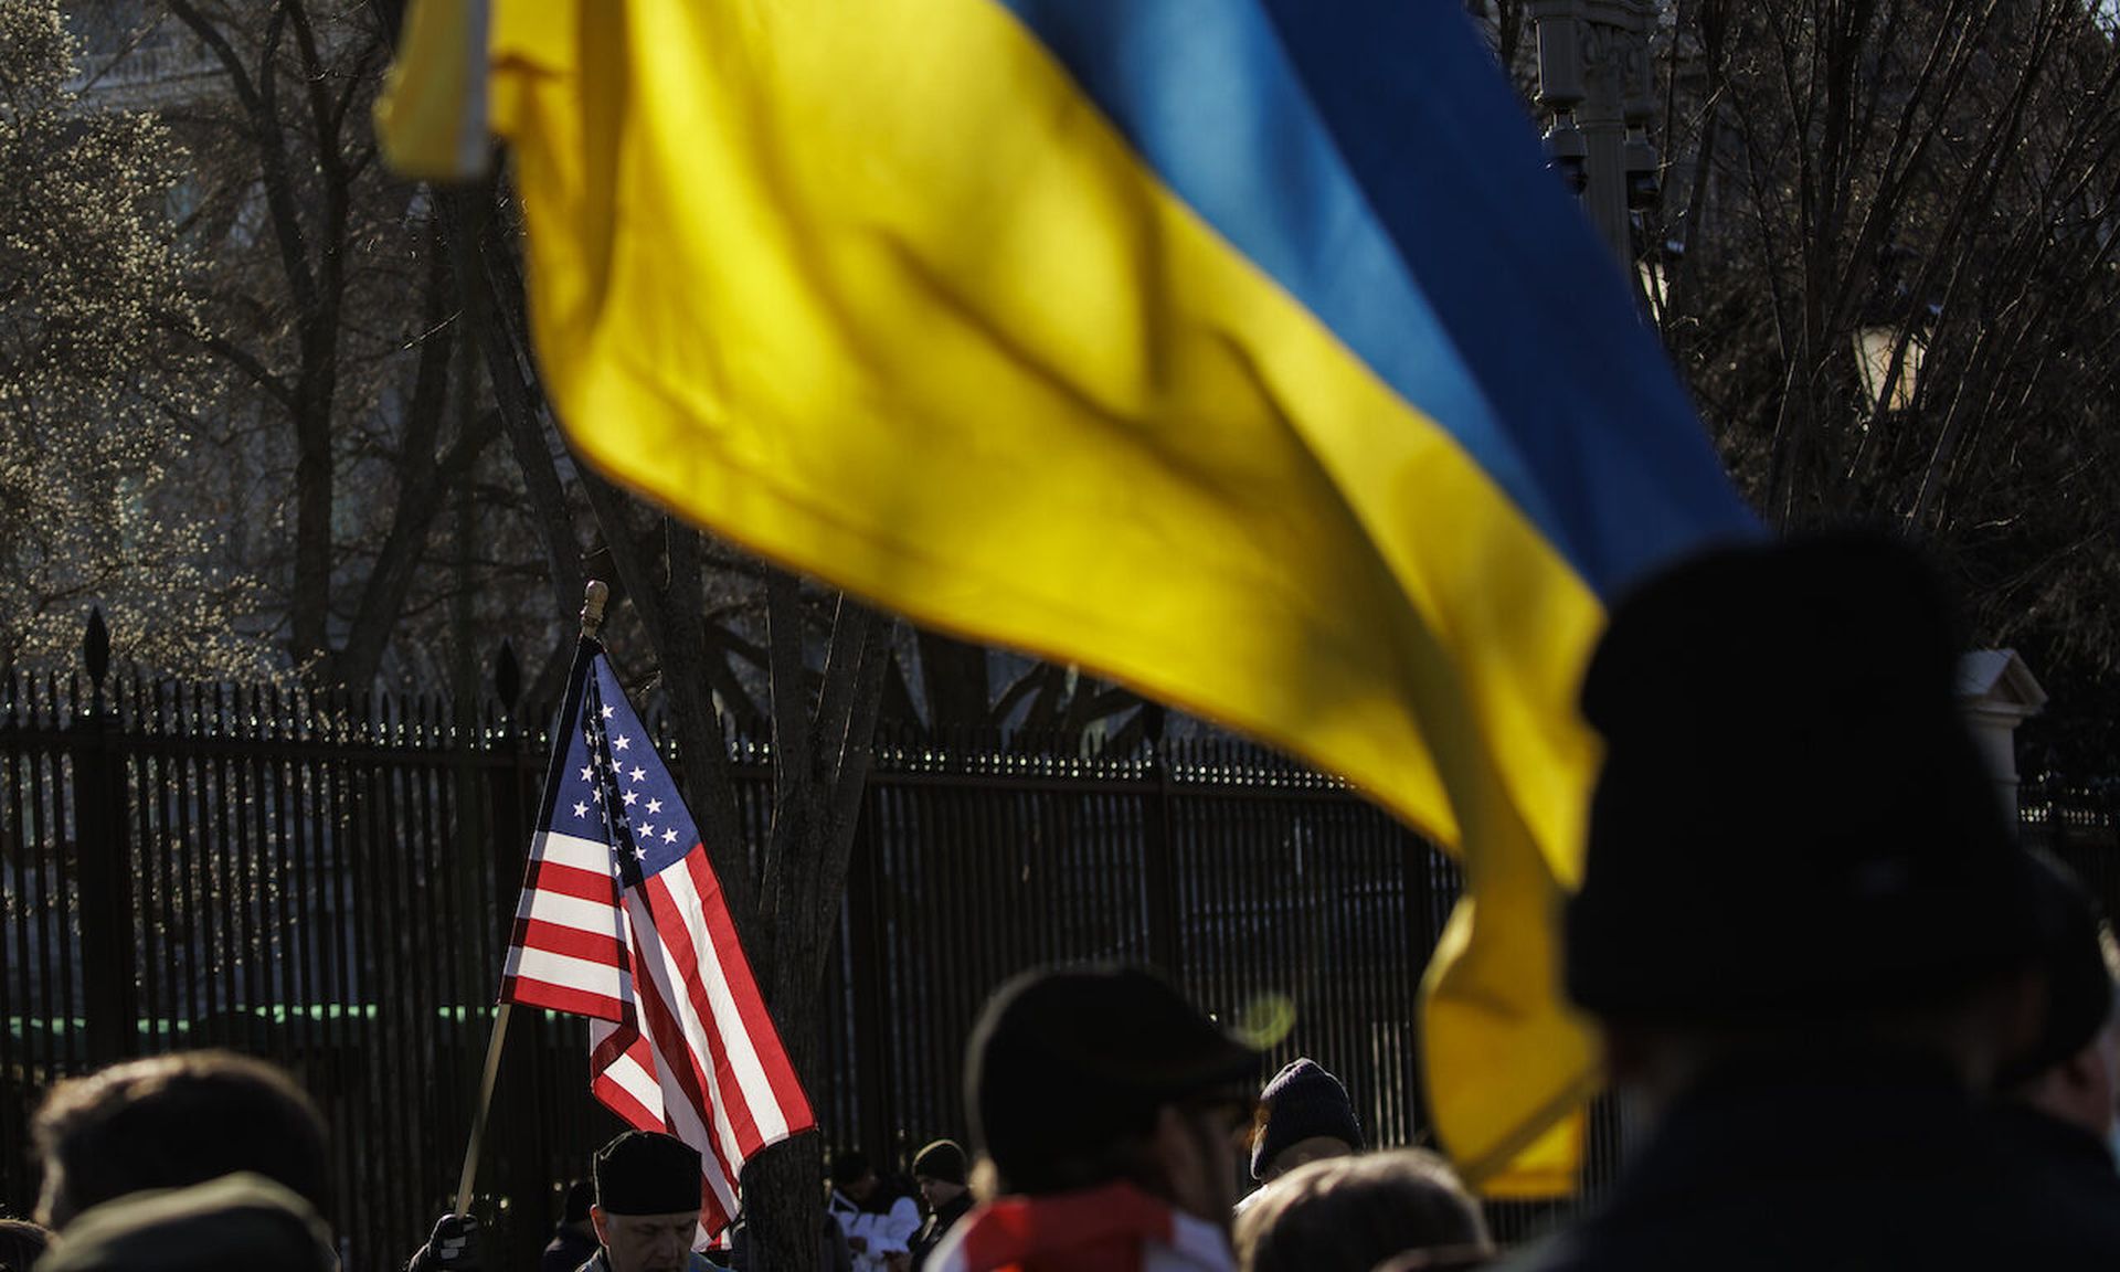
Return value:
<svg viewBox="0 0 2120 1272">
<path fill-rule="evenodd" d="M 1726 1066 L 1666 1111 L 1613 1196 L 1518 1272 L 2120 1268 L 2012 1168 L 1963 1088 L 1912 1056 Z"/>
</svg>

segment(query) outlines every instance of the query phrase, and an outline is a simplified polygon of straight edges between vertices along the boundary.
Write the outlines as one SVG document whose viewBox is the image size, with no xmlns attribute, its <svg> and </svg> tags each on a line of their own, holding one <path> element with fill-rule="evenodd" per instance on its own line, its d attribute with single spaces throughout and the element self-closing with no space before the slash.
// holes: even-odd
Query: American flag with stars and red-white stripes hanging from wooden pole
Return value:
<svg viewBox="0 0 2120 1272">
<path fill-rule="evenodd" d="M 591 1092 L 700 1149 L 710 1234 L 744 1162 L 816 1124 L 700 831 L 594 640 L 568 676 L 500 1001 L 589 1018 Z"/>
</svg>

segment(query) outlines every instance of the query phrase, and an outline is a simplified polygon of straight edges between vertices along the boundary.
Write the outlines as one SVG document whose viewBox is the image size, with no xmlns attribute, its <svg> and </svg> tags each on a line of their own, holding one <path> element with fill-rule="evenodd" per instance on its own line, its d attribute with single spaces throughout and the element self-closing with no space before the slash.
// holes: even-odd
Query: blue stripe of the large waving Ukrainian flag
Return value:
<svg viewBox="0 0 2120 1272">
<path fill-rule="evenodd" d="M 1613 261 L 1444 0 L 999 0 L 1598 596 L 1751 534 Z"/>
</svg>

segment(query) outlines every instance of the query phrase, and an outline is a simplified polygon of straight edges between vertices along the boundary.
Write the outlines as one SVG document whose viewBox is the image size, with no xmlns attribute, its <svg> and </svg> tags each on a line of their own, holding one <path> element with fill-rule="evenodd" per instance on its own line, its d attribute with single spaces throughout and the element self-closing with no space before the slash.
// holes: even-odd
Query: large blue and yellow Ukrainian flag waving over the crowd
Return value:
<svg viewBox="0 0 2120 1272">
<path fill-rule="evenodd" d="M 1444 1143 L 1492 1183 L 1586 1096 L 1577 678 L 1753 522 L 1463 6 L 424 4 L 386 146 L 511 144 L 583 456 L 1344 774 L 1465 859 Z"/>
</svg>

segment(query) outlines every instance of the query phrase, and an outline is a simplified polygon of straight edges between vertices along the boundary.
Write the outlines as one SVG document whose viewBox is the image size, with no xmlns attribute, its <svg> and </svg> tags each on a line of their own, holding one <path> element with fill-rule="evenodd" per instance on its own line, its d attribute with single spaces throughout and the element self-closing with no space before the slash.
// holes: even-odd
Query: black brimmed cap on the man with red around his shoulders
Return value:
<svg viewBox="0 0 2120 1272">
<path fill-rule="evenodd" d="M 1064 1187 L 1147 1134 L 1162 1105 L 1242 1092 L 1259 1054 L 1141 967 L 1024 973 L 988 999 L 965 1056 L 973 1143 L 1018 1191 Z M 1073 1181 L 1081 1185 L 1090 1181 Z"/>
</svg>

